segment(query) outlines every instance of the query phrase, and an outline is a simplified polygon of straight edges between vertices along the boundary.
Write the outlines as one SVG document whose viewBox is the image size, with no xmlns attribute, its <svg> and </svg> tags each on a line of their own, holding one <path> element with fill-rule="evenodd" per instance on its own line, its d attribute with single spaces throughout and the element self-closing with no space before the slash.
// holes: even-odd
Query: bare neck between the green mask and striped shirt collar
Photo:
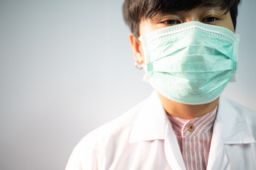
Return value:
<svg viewBox="0 0 256 170">
<path fill-rule="evenodd" d="M 169 98 L 166 98 L 159 93 L 157 94 L 166 113 L 183 119 L 193 119 L 201 115 L 206 115 L 206 113 L 213 111 L 213 109 L 218 105 L 219 101 L 219 98 L 217 98 L 215 101 L 206 104 L 188 105 L 171 101 Z"/>
</svg>

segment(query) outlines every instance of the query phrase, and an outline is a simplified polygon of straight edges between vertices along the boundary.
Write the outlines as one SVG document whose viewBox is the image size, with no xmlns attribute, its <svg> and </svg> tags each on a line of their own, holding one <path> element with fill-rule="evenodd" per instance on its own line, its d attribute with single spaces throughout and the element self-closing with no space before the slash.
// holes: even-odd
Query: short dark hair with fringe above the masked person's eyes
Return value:
<svg viewBox="0 0 256 170">
<path fill-rule="evenodd" d="M 125 23 L 137 38 L 142 18 L 152 18 L 159 12 L 188 11 L 200 5 L 220 7 L 225 13 L 230 11 L 235 28 L 239 4 L 240 0 L 125 0 L 123 16 Z"/>
</svg>

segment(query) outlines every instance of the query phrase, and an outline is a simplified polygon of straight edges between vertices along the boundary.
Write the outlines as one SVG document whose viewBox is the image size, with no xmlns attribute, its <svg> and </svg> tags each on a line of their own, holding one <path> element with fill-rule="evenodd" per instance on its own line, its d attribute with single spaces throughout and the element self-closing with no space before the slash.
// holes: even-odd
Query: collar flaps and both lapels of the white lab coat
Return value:
<svg viewBox="0 0 256 170">
<path fill-rule="evenodd" d="M 161 106 L 156 91 L 143 103 L 134 120 L 129 142 L 164 140 L 166 159 L 174 169 L 186 169 L 174 131 Z M 228 156 L 225 145 L 237 145 L 256 142 L 255 136 L 248 128 L 240 110 L 223 96 L 220 97 L 218 113 L 213 126 L 213 137 L 207 169 L 225 169 L 228 166 Z M 168 152 L 167 152 L 168 151 Z M 175 156 L 174 156 L 175 155 Z M 175 159 L 173 159 L 175 157 Z M 172 159 L 171 159 L 172 158 Z"/>
</svg>

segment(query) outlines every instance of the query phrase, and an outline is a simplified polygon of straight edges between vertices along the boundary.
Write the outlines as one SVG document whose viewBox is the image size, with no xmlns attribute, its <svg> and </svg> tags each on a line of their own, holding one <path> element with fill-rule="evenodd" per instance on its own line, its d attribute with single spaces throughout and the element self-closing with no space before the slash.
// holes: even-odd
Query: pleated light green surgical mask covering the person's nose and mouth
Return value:
<svg viewBox="0 0 256 170">
<path fill-rule="evenodd" d="M 227 28 L 191 21 L 154 30 L 139 40 L 144 81 L 173 101 L 210 103 L 234 80 L 239 36 Z"/>
</svg>

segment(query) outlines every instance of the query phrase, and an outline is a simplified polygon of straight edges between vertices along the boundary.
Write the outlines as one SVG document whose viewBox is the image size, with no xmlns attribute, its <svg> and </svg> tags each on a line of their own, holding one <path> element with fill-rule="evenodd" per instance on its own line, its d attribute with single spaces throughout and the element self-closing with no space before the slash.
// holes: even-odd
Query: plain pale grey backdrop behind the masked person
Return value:
<svg viewBox="0 0 256 170">
<path fill-rule="evenodd" d="M 122 3 L 0 0 L 0 169 L 64 169 L 87 132 L 149 96 Z M 223 94 L 256 111 L 255 7 L 240 6 L 237 82 Z"/>
</svg>

